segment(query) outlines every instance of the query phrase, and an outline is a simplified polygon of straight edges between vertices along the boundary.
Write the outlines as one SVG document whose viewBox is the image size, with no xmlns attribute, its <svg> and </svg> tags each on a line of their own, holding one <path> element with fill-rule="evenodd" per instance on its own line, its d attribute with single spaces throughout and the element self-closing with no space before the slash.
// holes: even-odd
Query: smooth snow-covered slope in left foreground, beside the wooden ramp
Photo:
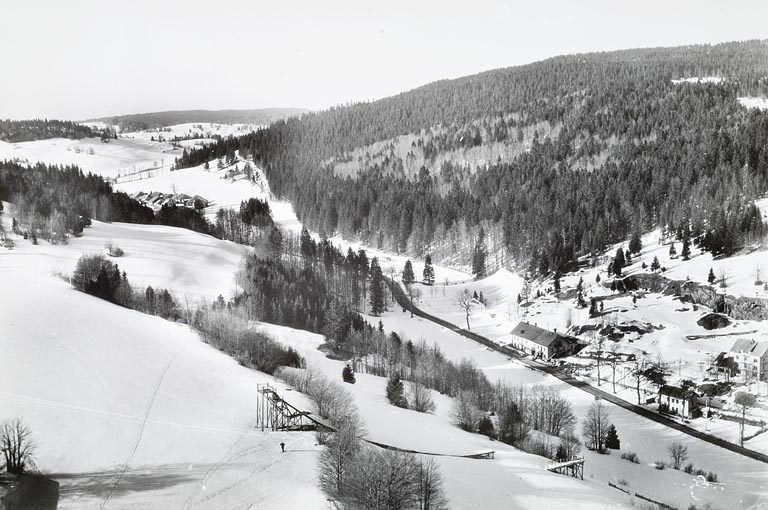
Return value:
<svg viewBox="0 0 768 510">
<path fill-rule="evenodd" d="M 257 383 L 279 382 L 7 255 L 0 419 L 31 427 L 59 508 L 324 508 L 314 437 L 254 429 Z"/>
</svg>

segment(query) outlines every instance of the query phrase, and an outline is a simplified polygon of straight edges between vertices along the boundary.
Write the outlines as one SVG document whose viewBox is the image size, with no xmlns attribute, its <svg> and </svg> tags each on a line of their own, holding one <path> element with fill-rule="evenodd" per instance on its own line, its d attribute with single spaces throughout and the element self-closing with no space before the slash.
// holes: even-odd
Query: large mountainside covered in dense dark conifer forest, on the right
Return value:
<svg viewBox="0 0 768 510">
<path fill-rule="evenodd" d="M 674 83 L 696 76 L 721 81 Z M 764 235 L 768 41 L 556 57 L 445 80 L 190 153 L 239 149 L 305 225 L 467 263 L 565 269 L 655 226 L 732 253 Z M 474 151 L 474 154 L 473 154 Z M 469 155 L 470 157 L 467 157 Z"/>
</svg>

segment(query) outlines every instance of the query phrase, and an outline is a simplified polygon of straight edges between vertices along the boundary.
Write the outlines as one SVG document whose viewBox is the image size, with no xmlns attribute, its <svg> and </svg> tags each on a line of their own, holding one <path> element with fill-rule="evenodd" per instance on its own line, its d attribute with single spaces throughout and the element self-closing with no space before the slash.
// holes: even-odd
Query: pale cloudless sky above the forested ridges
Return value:
<svg viewBox="0 0 768 510">
<path fill-rule="evenodd" d="M 756 38 L 766 0 L 0 0 L 0 118 L 323 109 L 567 53 Z"/>
</svg>

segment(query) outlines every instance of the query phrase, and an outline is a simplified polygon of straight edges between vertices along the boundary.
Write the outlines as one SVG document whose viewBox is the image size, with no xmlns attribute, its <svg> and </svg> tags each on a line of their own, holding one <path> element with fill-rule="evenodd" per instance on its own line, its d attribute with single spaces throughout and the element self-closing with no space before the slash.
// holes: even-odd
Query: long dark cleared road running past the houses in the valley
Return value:
<svg viewBox="0 0 768 510">
<path fill-rule="evenodd" d="M 397 303 L 403 308 L 405 308 L 406 310 L 412 312 L 414 315 L 418 315 L 419 317 L 422 317 L 436 324 L 439 324 L 444 328 L 450 329 L 451 331 L 458 333 L 459 335 L 462 335 L 466 338 L 469 338 L 470 340 L 474 340 L 478 343 L 481 343 L 484 346 L 489 347 L 497 352 L 513 357 L 518 361 L 522 362 L 523 364 L 525 364 L 526 366 L 532 368 L 533 370 L 538 370 L 539 372 L 544 372 L 545 374 L 549 374 L 553 377 L 557 377 L 558 379 L 560 379 L 566 384 L 570 384 L 575 388 L 579 388 L 580 390 L 586 391 L 587 393 L 591 393 L 592 395 L 605 399 L 608 402 L 611 402 L 613 404 L 616 404 L 619 407 L 626 409 L 627 411 L 631 411 L 635 414 L 639 414 L 640 416 L 647 418 L 649 420 L 655 421 L 656 423 L 666 425 L 667 427 L 683 432 L 684 434 L 688 434 L 689 436 L 693 436 L 697 439 L 701 439 L 702 441 L 706 441 L 710 444 L 719 446 L 721 448 L 725 448 L 726 450 L 730 450 L 734 453 L 738 453 L 739 455 L 743 455 L 745 457 L 749 457 L 751 459 L 755 459 L 760 462 L 765 462 L 766 464 L 768 464 L 768 455 L 764 453 L 756 452 L 755 450 L 744 448 L 743 446 L 739 446 L 735 443 L 731 443 L 730 441 L 726 441 L 725 439 L 721 439 L 711 434 L 701 432 L 700 430 L 696 430 L 694 428 L 688 427 L 687 425 L 671 420 L 670 418 L 667 418 L 663 414 L 659 414 L 643 406 L 639 406 L 639 405 L 627 402 L 626 400 L 620 399 L 615 395 L 607 393 L 599 388 L 595 388 L 589 383 L 574 379 L 573 377 L 566 374 L 558 367 L 554 367 L 551 365 L 542 365 L 540 363 L 533 362 L 529 359 L 526 359 L 520 356 L 520 353 L 514 349 L 510 349 L 509 347 L 499 345 L 495 342 L 492 342 L 491 340 L 489 340 L 488 338 L 482 335 L 478 335 L 477 333 L 474 333 L 472 331 L 467 331 L 466 329 L 462 329 L 456 326 L 455 324 L 451 324 L 445 319 L 441 319 L 440 317 L 435 317 L 434 315 L 431 315 L 419 309 L 416 305 L 412 304 L 411 301 L 408 299 L 408 296 L 406 296 L 405 292 L 403 292 L 402 287 L 400 287 L 400 285 L 397 282 L 386 277 L 385 277 L 385 281 L 387 282 L 387 286 L 389 287 L 389 290 L 392 292 L 392 295 L 394 296 Z"/>
</svg>

